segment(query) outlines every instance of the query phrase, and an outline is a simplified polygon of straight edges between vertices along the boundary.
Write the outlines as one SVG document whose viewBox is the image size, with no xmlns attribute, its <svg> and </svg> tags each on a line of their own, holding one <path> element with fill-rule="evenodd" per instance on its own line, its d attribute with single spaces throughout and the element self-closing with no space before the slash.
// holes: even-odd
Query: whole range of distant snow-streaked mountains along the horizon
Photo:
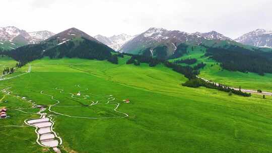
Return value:
<svg viewBox="0 0 272 153">
<path fill-rule="evenodd" d="M 54 35 L 54 33 L 46 30 L 26 32 L 25 30 L 21 30 L 14 26 L 1 27 L 0 48 L 15 49 L 26 44 L 36 44 Z M 84 33 L 84 35 L 87 37 L 88 34 Z M 69 39 L 67 36 L 65 36 L 66 40 Z M 166 30 L 163 28 L 150 28 L 135 36 L 127 34 L 114 35 L 111 37 L 96 35 L 92 37 L 92 39 L 109 46 L 115 51 L 132 54 L 141 53 L 147 48 L 153 50 L 158 46 L 165 46 L 167 47 L 167 56 L 172 55 L 180 43 L 211 45 L 211 43 L 217 44 L 218 42 L 216 41 L 227 41 L 229 44 L 238 42 L 240 44 L 255 47 L 272 48 L 272 31 L 264 29 L 254 30 L 234 40 L 216 31 L 207 33 L 187 33 L 179 30 Z M 65 39 L 63 38 L 63 41 L 64 40 Z"/>
</svg>

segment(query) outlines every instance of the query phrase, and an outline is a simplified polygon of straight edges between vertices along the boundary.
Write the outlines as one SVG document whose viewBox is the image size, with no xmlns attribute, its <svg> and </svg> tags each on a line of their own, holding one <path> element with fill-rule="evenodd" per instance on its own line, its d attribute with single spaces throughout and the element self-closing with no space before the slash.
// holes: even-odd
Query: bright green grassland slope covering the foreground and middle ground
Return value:
<svg viewBox="0 0 272 153">
<path fill-rule="evenodd" d="M 43 58 L 30 63 L 30 73 L 1 81 L 0 84 L 2 89 L 12 87 L 8 98 L 19 95 L 39 105 L 55 104 L 51 97 L 40 94 L 43 91 L 59 100 L 60 106 L 81 106 L 51 107 L 61 114 L 123 116 L 113 111 L 119 103 L 117 110 L 129 115 L 124 118 L 87 119 L 47 111 L 53 115 L 54 130 L 63 139 L 61 149 L 67 152 L 210 153 L 270 152 L 272 149 L 272 97 L 228 96 L 228 93 L 217 90 L 183 87 L 181 83 L 187 80 L 183 75 L 163 65 L 126 65 L 127 59 L 128 56 L 119 58 L 119 64 L 115 65 L 98 60 Z M 28 65 L 21 69 L 24 71 L 27 68 Z M 69 94 L 79 91 L 90 97 L 74 99 Z M 107 95 L 115 98 L 109 105 L 105 104 Z M 130 103 L 124 103 L 124 99 L 129 99 Z M 91 101 L 99 103 L 86 106 Z M 34 117 L 13 111 L 30 108 L 30 104 L 22 100 L 10 99 L 8 103 L 0 104 L 14 113 L 8 120 L 0 120 L 0 126 L 21 125 L 24 119 Z M 30 109 L 29 112 L 35 110 Z M 16 149 L 38 152 L 45 149 L 33 143 L 35 133 L 32 127 L 0 128 L 0 134 L 7 134 L 8 138 L 0 140 L 7 146 L 12 147 L 12 142 L 18 141 L 14 150 L 4 147 L 4 152 L 19 152 Z"/>
</svg>

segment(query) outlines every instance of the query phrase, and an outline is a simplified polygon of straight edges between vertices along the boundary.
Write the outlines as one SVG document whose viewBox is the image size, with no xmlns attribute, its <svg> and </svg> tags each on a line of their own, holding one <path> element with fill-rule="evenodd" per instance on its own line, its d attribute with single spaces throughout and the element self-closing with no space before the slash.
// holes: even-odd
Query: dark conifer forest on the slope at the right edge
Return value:
<svg viewBox="0 0 272 153">
<path fill-rule="evenodd" d="M 272 53 L 251 51 L 239 46 L 230 48 L 208 48 L 206 56 L 221 63 L 224 69 L 241 72 L 255 72 L 259 75 L 272 73 Z"/>
</svg>

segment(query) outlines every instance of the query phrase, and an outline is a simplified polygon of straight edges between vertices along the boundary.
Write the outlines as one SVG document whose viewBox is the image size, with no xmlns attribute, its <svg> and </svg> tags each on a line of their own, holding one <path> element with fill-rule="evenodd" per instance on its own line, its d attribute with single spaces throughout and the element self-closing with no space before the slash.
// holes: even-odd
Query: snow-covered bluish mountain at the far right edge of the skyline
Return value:
<svg viewBox="0 0 272 153">
<path fill-rule="evenodd" d="M 235 41 L 245 45 L 272 48 L 272 30 L 257 29 L 238 37 Z"/>
</svg>

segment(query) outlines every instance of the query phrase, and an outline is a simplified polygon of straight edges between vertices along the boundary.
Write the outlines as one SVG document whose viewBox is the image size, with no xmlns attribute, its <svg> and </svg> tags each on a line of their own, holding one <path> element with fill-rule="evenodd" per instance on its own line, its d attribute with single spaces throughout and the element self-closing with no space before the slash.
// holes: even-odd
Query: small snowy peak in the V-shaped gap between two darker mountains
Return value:
<svg viewBox="0 0 272 153">
<path fill-rule="evenodd" d="M 95 36 L 98 41 L 106 44 L 115 51 L 118 51 L 123 46 L 123 44 L 125 44 L 127 41 L 131 40 L 134 37 L 135 36 L 129 36 L 127 34 L 114 35 L 111 37 L 105 37 L 102 35 Z"/>
</svg>

